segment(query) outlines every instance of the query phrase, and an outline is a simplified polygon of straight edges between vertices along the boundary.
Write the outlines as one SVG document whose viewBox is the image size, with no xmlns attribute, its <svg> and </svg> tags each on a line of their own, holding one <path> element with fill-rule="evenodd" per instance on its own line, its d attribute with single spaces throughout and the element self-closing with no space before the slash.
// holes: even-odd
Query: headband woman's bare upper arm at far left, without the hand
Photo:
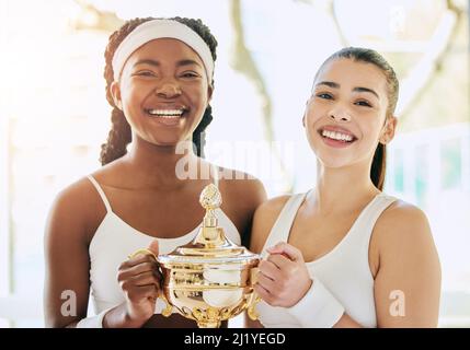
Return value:
<svg viewBox="0 0 470 350">
<path fill-rule="evenodd" d="M 47 327 L 74 327 L 87 317 L 90 259 L 79 186 L 60 192 L 45 232 L 44 314 Z"/>
</svg>

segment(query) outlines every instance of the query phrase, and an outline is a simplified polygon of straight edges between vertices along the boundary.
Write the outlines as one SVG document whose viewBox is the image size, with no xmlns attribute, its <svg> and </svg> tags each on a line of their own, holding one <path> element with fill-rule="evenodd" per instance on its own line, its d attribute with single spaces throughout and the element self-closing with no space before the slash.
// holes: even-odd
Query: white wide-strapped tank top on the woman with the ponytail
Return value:
<svg viewBox="0 0 470 350">
<path fill-rule="evenodd" d="M 294 219 L 306 195 L 294 195 L 286 202 L 263 246 L 264 257 L 268 254 L 266 248 L 288 241 Z M 374 277 L 369 267 L 370 235 L 379 215 L 396 200 L 382 192 L 377 195 L 332 250 L 306 262 L 312 279 L 318 278 L 344 306 L 346 314 L 364 327 L 377 326 Z M 256 308 L 264 327 L 301 327 L 284 307 L 271 306 L 262 301 Z"/>
</svg>

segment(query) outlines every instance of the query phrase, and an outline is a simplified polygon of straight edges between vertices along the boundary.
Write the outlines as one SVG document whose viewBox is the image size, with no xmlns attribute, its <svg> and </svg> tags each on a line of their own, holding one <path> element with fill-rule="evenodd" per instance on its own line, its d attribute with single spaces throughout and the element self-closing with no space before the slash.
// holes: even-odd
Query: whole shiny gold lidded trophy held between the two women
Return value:
<svg viewBox="0 0 470 350">
<path fill-rule="evenodd" d="M 256 319 L 253 285 L 261 256 L 231 242 L 217 225 L 215 210 L 222 199 L 215 185 L 204 188 L 199 202 L 206 214 L 196 237 L 157 257 L 163 273 L 160 298 L 167 303 L 162 315 L 170 316 L 174 307 L 200 328 L 220 327 L 244 310 Z"/>
</svg>

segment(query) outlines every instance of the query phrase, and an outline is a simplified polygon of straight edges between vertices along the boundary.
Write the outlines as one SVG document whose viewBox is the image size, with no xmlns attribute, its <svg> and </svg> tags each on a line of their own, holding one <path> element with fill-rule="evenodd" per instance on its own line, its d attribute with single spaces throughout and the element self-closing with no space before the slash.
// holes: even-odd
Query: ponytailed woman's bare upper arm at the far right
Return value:
<svg viewBox="0 0 470 350">
<path fill-rule="evenodd" d="M 398 202 L 376 224 L 378 327 L 436 327 L 440 264 L 426 215 Z"/>
</svg>

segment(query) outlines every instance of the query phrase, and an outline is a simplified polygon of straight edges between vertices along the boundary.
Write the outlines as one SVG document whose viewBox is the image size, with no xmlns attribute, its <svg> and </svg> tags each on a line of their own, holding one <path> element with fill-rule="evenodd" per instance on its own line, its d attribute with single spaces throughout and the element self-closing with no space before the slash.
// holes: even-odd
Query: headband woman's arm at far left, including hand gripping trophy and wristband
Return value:
<svg viewBox="0 0 470 350">
<path fill-rule="evenodd" d="M 98 202 L 92 202 L 93 198 Z M 158 266 L 153 257 L 139 255 L 124 261 L 118 270 L 125 302 L 103 317 L 87 318 L 88 249 L 104 214 L 103 208 L 101 217 L 96 217 L 99 206 L 103 205 L 87 180 L 64 190 L 53 205 L 45 235 L 44 311 L 48 327 L 140 327 L 153 315 L 159 293 Z M 158 254 L 157 242 L 152 242 L 150 248 Z"/>
</svg>

